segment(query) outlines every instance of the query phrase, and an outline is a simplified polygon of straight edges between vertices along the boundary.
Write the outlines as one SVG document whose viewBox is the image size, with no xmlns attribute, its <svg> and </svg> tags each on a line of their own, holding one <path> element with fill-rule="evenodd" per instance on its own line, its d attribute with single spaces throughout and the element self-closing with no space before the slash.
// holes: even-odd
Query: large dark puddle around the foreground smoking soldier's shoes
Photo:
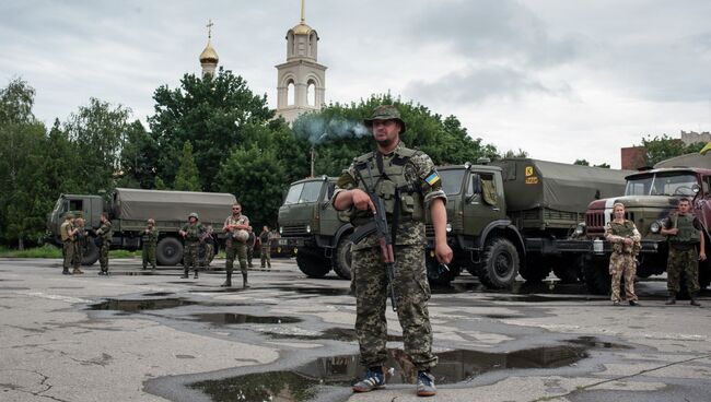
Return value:
<svg viewBox="0 0 711 402">
<path fill-rule="evenodd" d="M 440 362 L 432 374 L 438 383 L 454 383 L 492 370 L 557 368 L 587 357 L 586 350 L 576 344 L 510 353 L 455 350 L 436 354 Z M 350 387 L 354 383 L 364 374 L 358 360 L 359 355 L 322 357 L 293 370 L 255 373 L 194 382 L 188 387 L 201 390 L 212 401 L 307 401 L 316 397 L 318 386 Z M 395 369 L 388 383 L 415 382 L 417 369 L 401 350 L 388 350 L 386 366 Z"/>
</svg>

